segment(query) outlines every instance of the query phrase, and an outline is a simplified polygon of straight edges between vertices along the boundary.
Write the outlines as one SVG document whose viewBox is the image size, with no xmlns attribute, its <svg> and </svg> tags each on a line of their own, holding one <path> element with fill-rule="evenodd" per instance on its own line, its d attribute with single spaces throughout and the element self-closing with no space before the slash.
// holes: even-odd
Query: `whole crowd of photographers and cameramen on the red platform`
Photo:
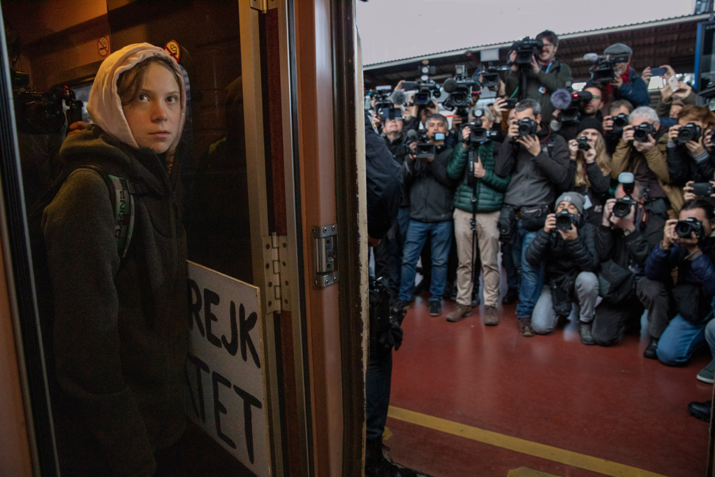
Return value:
<svg viewBox="0 0 715 477">
<path fill-rule="evenodd" d="M 573 92 L 557 51 L 544 31 L 513 46 L 504 79 L 458 67 L 443 84 L 451 124 L 425 77 L 377 95 L 373 127 L 402 166 L 404 199 L 375 275 L 403 310 L 421 256 L 417 291 L 428 285 L 432 316 L 455 300 L 445 318 L 456 322 L 474 313 L 481 272 L 481 318 L 498 325 L 501 251 L 502 303 L 518 301 L 525 337 L 573 315 L 583 344 L 609 346 L 638 333 L 647 310 L 646 358 L 679 365 L 704 343 L 715 355 L 715 114 L 671 67 L 638 74 L 624 44 Z M 651 99 L 653 75 L 666 85 Z M 482 88 L 496 98 L 475 107 Z M 714 370 L 697 378 L 712 383 Z"/>
</svg>

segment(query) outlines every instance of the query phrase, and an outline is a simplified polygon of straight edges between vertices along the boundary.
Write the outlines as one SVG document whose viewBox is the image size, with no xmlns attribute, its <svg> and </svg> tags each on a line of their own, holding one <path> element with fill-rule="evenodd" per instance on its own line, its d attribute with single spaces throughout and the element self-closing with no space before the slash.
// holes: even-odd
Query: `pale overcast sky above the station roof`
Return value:
<svg viewBox="0 0 715 477">
<path fill-rule="evenodd" d="M 689 15 L 695 0 L 358 1 L 363 64 Z"/>
</svg>

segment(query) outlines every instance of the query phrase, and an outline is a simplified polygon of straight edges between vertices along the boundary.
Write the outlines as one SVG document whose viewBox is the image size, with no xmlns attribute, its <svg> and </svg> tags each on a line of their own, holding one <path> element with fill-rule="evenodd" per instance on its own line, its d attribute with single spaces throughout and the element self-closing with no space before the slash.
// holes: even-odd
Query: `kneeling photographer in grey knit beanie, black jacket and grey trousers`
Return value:
<svg viewBox="0 0 715 477">
<path fill-rule="evenodd" d="M 533 267 L 546 262 L 546 281 L 531 318 L 533 330 L 540 335 L 551 333 L 559 318 L 568 318 L 573 308 L 579 317 L 581 343 L 594 345 L 591 322 L 598 299 L 598 257 L 594 227 L 583 216 L 585 202 L 586 197 L 578 192 L 558 197 L 556 213 L 546 217 L 524 257 Z M 578 303 L 572 305 L 574 299 Z"/>
</svg>

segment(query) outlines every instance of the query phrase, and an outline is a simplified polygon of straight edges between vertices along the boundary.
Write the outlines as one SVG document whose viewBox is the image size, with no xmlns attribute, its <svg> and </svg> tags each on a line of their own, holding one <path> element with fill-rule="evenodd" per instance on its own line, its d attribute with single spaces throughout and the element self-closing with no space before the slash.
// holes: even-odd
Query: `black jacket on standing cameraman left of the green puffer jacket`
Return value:
<svg viewBox="0 0 715 477">
<path fill-rule="evenodd" d="M 405 187 L 410 190 L 410 219 L 420 222 L 452 220 L 452 200 L 459 180 L 447 173 L 453 149 L 438 147 L 432 162 L 405 161 Z"/>
</svg>

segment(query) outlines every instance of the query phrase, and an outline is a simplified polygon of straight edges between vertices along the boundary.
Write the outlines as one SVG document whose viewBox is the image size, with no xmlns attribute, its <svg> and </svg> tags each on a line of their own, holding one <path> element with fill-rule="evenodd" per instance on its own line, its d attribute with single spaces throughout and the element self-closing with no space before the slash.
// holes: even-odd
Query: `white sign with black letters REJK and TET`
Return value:
<svg viewBox="0 0 715 477">
<path fill-rule="evenodd" d="M 186 413 L 256 476 L 269 477 L 259 289 L 188 265 Z"/>
</svg>

